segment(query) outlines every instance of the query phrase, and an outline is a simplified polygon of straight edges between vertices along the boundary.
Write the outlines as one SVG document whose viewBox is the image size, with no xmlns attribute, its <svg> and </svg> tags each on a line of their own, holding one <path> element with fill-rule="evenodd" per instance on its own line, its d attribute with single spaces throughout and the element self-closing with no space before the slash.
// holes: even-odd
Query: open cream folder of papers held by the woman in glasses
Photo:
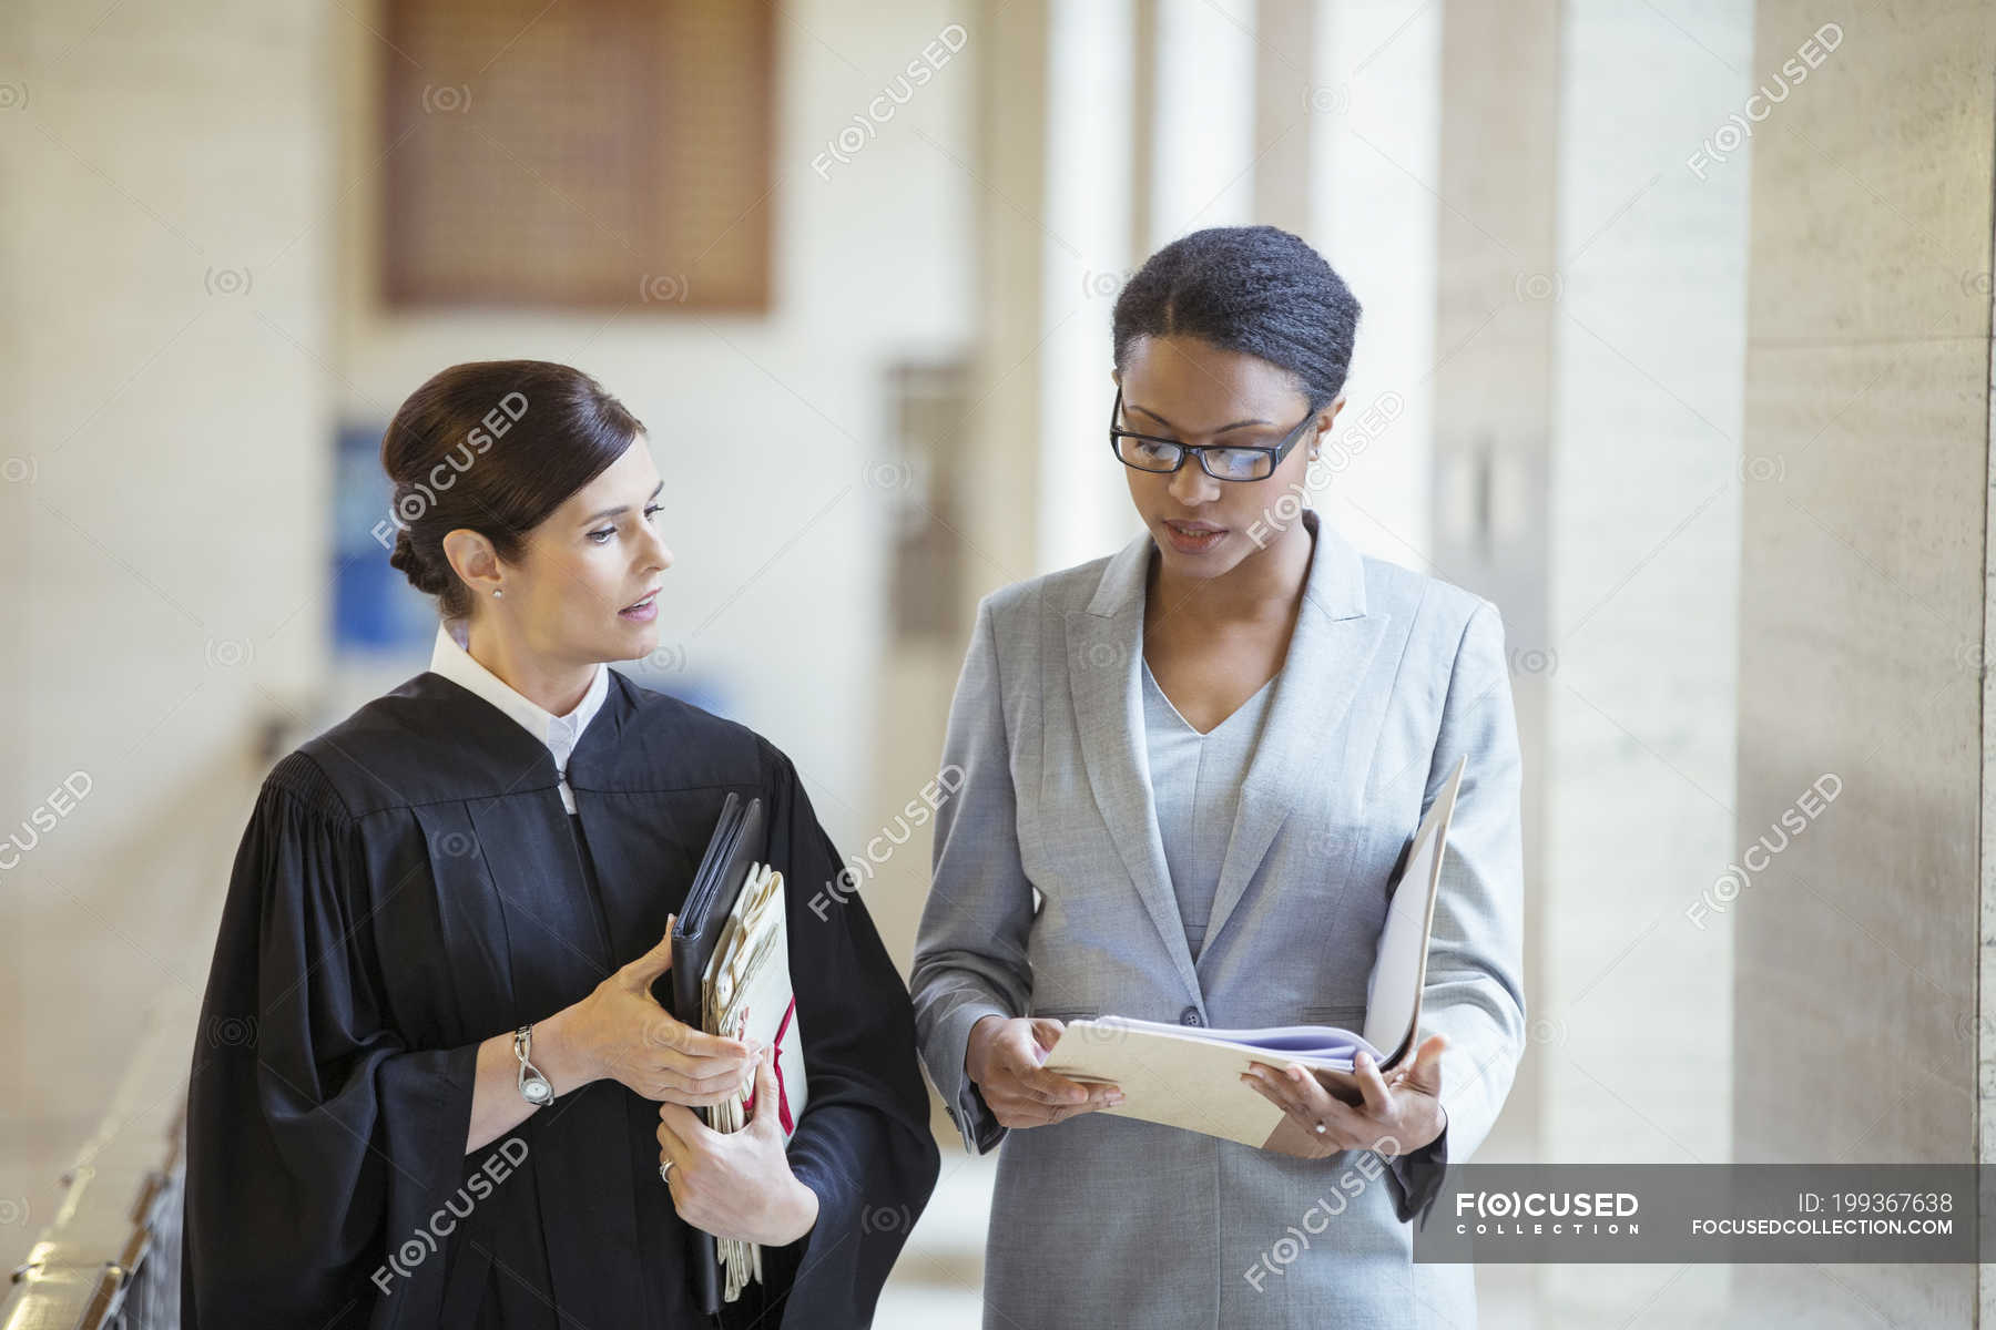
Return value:
<svg viewBox="0 0 1996 1330">
<path fill-rule="evenodd" d="M 1427 941 L 1435 925 L 1435 891 L 1447 847 L 1449 814 L 1467 758 L 1413 833 L 1407 863 L 1393 887 L 1379 949 L 1365 989 L 1365 1031 L 1329 1025 L 1273 1029 L 1200 1029 L 1098 1017 L 1070 1021 L 1046 1053 L 1046 1069 L 1072 1081 L 1106 1081 L 1124 1101 L 1100 1113 L 1182 1127 L 1208 1137 L 1271 1147 L 1283 1137 L 1301 1141 L 1303 1129 L 1240 1081 L 1249 1063 L 1299 1063 L 1345 1103 L 1359 1103 L 1351 1055 L 1365 1049 L 1381 1071 L 1413 1055 L 1421 987 L 1427 981 Z"/>
</svg>

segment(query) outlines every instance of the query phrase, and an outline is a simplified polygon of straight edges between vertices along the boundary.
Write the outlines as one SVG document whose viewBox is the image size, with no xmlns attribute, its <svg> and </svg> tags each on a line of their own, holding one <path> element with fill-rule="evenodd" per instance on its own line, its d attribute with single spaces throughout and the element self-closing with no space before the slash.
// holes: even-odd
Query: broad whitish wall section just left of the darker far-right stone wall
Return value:
<svg viewBox="0 0 1996 1330">
<path fill-rule="evenodd" d="M 1549 1163 L 1733 1149 L 1733 937 L 1685 907 L 1735 851 L 1750 167 L 1685 160 L 1746 96 L 1750 58 L 1745 2 L 1687 24 L 1561 6 L 1557 245 L 1515 291 L 1553 315 L 1549 630 L 1513 642 L 1545 704 L 1531 1051 Z M 1537 1274 L 1557 1324 L 1665 1298 L 1717 1318 L 1729 1296 L 1723 1266 Z"/>
</svg>

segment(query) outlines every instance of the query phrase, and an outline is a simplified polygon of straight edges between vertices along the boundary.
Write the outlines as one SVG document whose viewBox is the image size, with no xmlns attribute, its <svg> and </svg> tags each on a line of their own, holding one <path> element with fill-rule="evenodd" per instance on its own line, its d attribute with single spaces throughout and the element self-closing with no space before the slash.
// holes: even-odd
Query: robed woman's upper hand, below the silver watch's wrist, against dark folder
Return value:
<svg viewBox="0 0 1996 1330">
<path fill-rule="evenodd" d="M 661 1007 L 651 985 L 671 969 L 673 919 L 657 947 L 557 1017 L 575 1059 L 589 1079 L 619 1081 L 659 1103 L 707 1107 L 741 1095 L 754 1067 L 754 1043 L 693 1029 Z"/>
</svg>

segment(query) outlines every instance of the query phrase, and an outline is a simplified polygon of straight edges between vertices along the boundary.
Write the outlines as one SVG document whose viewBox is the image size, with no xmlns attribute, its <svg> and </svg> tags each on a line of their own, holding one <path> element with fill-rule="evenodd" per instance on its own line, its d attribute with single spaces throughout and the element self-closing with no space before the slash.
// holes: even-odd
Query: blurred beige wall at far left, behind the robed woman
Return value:
<svg viewBox="0 0 1996 1330">
<path fill-rule="evenodd" d="M 331 203 L 319 6 L 8 6 L 0 301 L 0 1216 L 52 1216 L 154 1003 L 198 1001 L 253 724 L 323 654 Z M 343 22 L 343 20 L 341 20 Z M 78 782 L 78 788 L 84 788 Z M 218 814 L 220 810 L 220 814 Z M 170 1093 L 170 1091 L 168 1091 Z"/>
</svg>

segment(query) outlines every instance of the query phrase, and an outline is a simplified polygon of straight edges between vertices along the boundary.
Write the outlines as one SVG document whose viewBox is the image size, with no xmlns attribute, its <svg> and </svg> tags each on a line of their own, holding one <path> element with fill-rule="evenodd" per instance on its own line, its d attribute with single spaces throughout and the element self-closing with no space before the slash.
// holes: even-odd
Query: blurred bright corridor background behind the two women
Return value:
<svg viewBox="0 0 1996 1330">
<path fill-rule="evenodd" d="M 1236 223 L 1365 307 L 1311 506 L 1503 608 L 1533 1021 L 1477 1161 L 1980 1161 L 1992 68 L 1944 0 L 0 6 L 0 1240 L 94 1141 L 44 1260 L 96 1286 L 188 1049 L 253 1039 L 196 1009 L 257 782 L 429 658 L 417 383 L 565 361 L 645 421 L 619 668 L 796 762 L 906 973 L 978 598 L 1138 534 L 1110 309 Z M 994 1157 L 934 1125 L 882 1326 L 980 1324 Z M 1986 1268 L 1477 1286 L 1974 1326 Z"/>
</svg>

